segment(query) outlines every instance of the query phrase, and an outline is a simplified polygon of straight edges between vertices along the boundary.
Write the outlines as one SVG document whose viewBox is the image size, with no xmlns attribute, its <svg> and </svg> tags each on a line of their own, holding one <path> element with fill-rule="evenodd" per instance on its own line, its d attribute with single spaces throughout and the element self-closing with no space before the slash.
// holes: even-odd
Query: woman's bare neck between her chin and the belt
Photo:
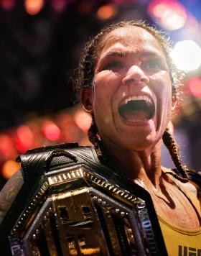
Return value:
<svg viewBox="0 0 201 256">
<path fill-rule="evenodd" d="M 146 187 L 159 186 L 161 170 L 161 142 L 146 150 L 122 150 L 103 145 L 109 165 L 131 180 L 141 180 Z"/>
</svg>

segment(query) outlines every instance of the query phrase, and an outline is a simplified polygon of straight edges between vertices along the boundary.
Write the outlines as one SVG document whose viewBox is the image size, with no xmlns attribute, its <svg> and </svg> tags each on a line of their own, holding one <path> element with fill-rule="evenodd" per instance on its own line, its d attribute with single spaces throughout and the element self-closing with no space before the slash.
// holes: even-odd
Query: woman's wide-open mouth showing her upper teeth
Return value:
<svg viewBox="0 0 201 256">
<path fill-rule="evenodd" d="M 132 96 L 118 107 L 118 113 L 131 122 L 150 120 L 154 116 L 155 107 L 147 96 Z"/>
</svg>

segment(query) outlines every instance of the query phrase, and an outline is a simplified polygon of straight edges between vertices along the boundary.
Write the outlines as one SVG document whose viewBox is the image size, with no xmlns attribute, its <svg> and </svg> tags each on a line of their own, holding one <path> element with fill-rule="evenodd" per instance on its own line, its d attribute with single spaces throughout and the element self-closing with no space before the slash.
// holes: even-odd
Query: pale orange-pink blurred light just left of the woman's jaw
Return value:
<svg viewBox="0 0 201 256">
<path fill-rule="evenodd" d="M 89 114 L 85 113 L 83 110 L 79 110 L 74 116 L 75 124 L 83 130 L 83 132 L 88 132 L 91 124 L 91 117 Z"/>
</svg>

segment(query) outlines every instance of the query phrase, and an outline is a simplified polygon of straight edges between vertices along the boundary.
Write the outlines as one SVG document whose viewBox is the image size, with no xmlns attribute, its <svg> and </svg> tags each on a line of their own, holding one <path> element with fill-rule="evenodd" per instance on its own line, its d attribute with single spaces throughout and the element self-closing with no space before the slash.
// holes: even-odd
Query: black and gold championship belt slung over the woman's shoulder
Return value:
<svg viewBox="0 0 201 256">
<path fill-rule="evenodd" d="M 2 255 L 167 255 L 149 193 L 93 147 L 42 147 L 18 160 L 24 185 L 1 224 Z"/>
</svg>

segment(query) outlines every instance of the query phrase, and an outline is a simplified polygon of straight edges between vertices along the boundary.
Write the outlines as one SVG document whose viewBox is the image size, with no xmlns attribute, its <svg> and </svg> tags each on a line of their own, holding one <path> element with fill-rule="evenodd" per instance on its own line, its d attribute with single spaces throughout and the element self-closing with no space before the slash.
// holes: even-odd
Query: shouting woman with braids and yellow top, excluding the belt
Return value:
<svg viewBox="0 0 201 256">
<path fill-rule="evenodd" d="M 149 191 L 169 255 L 182 255 L 200 253 L 200 204 L 182 185 L 189 175 L 168 128 L 179 86 L 169 50 L 168 40 L 144 22 L 114 24 L 88 42 L 77 85 L 93 116 L 88 136 L 98 157 Z M 162 140 L 175 172 L 161 166 Z M 17 179 L 20 187 L 20 173 Z M 9 184 L 0 196 L 4 213 L 14 200 Z"/>
</svg>

